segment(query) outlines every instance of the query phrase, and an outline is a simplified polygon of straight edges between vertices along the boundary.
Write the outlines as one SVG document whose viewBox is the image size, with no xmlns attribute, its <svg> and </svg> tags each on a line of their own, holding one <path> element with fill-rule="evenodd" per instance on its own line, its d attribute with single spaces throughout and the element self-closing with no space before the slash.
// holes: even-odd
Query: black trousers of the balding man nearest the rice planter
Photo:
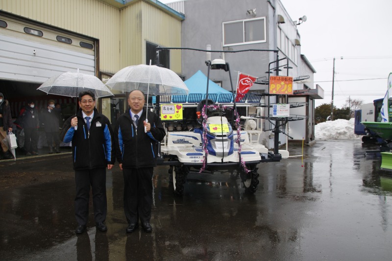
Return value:
<svg viewBox="0 0 392 261">
<path fill-rule="evenodd" d="M 124 212 L 128 224 L 150 222 L 153 167 L 124 168 Z"/>
</svg>

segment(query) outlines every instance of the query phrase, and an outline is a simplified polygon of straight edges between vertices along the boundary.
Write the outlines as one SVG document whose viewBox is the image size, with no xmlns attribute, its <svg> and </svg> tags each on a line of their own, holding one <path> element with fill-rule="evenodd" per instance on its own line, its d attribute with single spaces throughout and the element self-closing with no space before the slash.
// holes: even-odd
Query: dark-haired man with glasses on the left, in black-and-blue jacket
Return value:
<svg viewBox="0 0 392 261">
<path fill-rule="evenodd" d="M 94 219 L 99 231 L 107 231 L 104 224 L 106 203 L 106 166 L 115 162 L 115 142 L 109 119 L 95 109 L 95 95 L 79 94 L 79 112 L 64 122 L 60 138 L 72 142 L 73 169 L 75 170 L 75 233 L 86 230 L 89 212 L 90 185 L 93 189 Z"/>
</svg>

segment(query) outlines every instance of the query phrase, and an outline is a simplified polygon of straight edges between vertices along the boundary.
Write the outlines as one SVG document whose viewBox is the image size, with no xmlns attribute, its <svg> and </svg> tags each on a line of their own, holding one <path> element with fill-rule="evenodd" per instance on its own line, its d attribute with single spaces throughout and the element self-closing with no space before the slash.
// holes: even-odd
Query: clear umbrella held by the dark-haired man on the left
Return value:
<svg viewBox="0 0 392 261">
<path fill-rule="evenodd" d="M 96 76 L 70 71 L 51 77 L 38 90 L 68 97 L 77 97 L 82 91 L 92 91 L 97 98 L 113 95 Z"/>
</svg>

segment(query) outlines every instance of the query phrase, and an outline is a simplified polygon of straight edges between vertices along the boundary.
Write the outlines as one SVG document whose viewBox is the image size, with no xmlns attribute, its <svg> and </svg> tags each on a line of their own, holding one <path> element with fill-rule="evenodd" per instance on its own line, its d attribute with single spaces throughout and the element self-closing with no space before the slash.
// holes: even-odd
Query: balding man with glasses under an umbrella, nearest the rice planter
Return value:
<svg viewBox="0 0 392 261">
<path fill-rule="evenodd" d="M 158 115 L 143 110 L 145 95 L 139 90 L 128 96 L 130 109 L 117 119 L 115 127 L 117 160 L 124 177 L 124 212 L 127 233 L 139 227 L 151 232 L 152 176 L 157 145 L 166 135 Z"/>
</svg>

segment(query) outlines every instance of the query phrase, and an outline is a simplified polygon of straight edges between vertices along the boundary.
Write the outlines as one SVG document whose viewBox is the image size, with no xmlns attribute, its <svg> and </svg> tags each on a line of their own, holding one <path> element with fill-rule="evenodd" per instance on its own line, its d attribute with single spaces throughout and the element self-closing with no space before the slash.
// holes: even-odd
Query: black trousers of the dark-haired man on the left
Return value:
<svg viewBox="0 0 392 261">
<path fill-rule="evenodd" d="M 90 186 L 93 189 L 95 222 L 104 222 L 107 213 L 106 168 L 75 170 L 75 217 L 79 225 L 86 225 L 89 215 Z"/>
</svg>

